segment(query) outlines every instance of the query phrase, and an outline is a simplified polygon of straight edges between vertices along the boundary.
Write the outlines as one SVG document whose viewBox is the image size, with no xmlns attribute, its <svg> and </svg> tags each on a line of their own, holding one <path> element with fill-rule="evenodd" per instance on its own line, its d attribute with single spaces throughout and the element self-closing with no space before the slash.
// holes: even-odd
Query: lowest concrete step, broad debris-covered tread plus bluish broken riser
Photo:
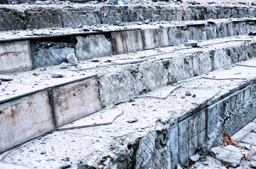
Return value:
<svg viewBox="0 0 256 169">
<path fill-rule="evenodd" d="M 166 99 L 143 97 L 105 108 L 1 154 L 1 161 L 59 168 L 68 157 L 73 168 L 176 169 L 200 144 L 218 146 L 224 133 L 256 118 L 251 63 L 256 59 L 187 79 Z"/>
</svg>

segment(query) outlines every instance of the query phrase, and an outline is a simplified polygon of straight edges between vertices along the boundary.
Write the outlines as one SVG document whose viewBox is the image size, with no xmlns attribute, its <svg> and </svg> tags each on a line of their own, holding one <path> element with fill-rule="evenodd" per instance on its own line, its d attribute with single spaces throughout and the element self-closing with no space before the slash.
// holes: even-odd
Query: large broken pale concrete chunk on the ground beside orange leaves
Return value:
<svg viewBox="0 0 256 169">
<path fill-rule="evenodd" d="M 214 147 L 210 150 L 210 154 L 225 165 L 236 167 L 244 157 L 241 150 L 235 146 L 228 145 L 224 148 Z"/>
</svg>

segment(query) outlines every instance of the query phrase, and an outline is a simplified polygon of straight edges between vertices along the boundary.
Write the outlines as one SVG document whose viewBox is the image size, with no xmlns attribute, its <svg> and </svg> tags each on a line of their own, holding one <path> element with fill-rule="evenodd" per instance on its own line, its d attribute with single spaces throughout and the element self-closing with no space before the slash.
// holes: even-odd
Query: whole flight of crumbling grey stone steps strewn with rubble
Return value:
<svg viewBox="0 0 256 169">
<path fill-rule="evenodd" d="M 39 6 L 22 7 L 26 22 L 44 16 L 37 14 Z M 16 6 L 0 8 L 2 18 L 17 12 Z M 157 11 L 40 8 L 52 19 L 53 11 L 55 17 L 60 12 L 62 20 L 64 13 L 90 11 L 72 17 L 91 21 L 89 14 L 111 8 L 109 14 L 123 14 L 122 22 L 133 10 Z M 176 13 L 149 24 L 104 25 L 101 18 L 99 25 L 81 23 L 90 27 L 77 28 L 77 22 L 0 32 L 0 73 L 12 79 L 0 76 L 0 166 L 176 169 L 200 144 L 218 146 L 224 132 L 232 135 L 256 118 L 254 7 L 157 8 L 163 18 L 170 15 L 164 10 Z M 193 16 L 198 10 L 205 15 Z M 60 68 L 71 53 L 78 64 Z"/>
</svg>

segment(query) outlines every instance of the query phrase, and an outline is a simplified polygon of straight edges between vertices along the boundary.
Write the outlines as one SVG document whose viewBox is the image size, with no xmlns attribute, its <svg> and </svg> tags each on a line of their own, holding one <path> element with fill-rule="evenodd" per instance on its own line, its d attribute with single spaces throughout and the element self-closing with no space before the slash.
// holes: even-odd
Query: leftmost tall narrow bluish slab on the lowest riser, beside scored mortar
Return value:
<svg viewBox="0 0 256 169">
<path fill-rule="evenodd" d="M 176 165 L 178 164 L 178 155 L 179 155 L 177 124 L 169 128 L 168 136 L 169 136 L 169 146 L 170 146 L 171 169 L 176 169 Z"/>
</svg>

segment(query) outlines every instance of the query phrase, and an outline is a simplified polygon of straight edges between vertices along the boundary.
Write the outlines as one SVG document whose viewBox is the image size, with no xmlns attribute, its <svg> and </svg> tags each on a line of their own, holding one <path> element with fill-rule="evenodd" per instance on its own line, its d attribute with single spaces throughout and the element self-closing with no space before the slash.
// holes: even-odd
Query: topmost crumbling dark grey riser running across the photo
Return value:
<svg viewBox="0 0 256 169">
<path fill-rule="evenodd" d="M 254 6 L 83 6 L 76 9 L 69 6 L 23 6 L 23 8 L 3 5 L 0 7 L 0 31 L 65 28 L 82 25 L 112 24 L 114 21 L 138 22 L 207 20 L 221 18 L 255 17 Z M 75 12 L 74 12 L 75 11 Z M 143 14 L 143 15 L 142 15 Z M 50 18 L 50 19 L 49 19 Z M 15 24 L 6 24 L 15 23 Z"/>
</svg>

